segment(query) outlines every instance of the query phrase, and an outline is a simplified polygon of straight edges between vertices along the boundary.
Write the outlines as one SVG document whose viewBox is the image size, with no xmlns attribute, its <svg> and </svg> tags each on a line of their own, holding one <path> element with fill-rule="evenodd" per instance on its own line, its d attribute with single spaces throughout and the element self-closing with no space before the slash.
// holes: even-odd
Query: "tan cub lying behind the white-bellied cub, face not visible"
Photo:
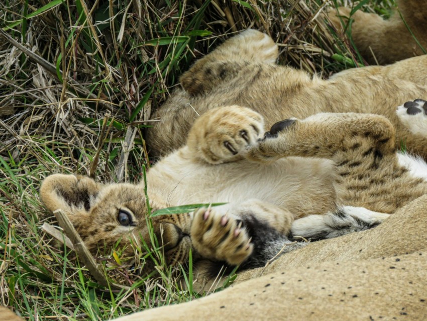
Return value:
<svg viewBox="0 0 427 321">
<path fill-rule="evenodd" d="M 427 159 L 427 144 L 396 116 L 395 107 L 427 97 L 427 55 L 388 66 L 339 72 L 328 80 L 275 64 L 278 48 L 261 32 L 246 30 L 199 59 L 181 76 L 177 89 L 153 116 L 162 121 L 147 131 L 150 153 L 166 155 L 185 143 L 199 115 L 239 105 L 263 115 L 270 127 L 280 119 L 322 112 L 373 113 L 396 129 L 397 146 Z"/>
</svg>

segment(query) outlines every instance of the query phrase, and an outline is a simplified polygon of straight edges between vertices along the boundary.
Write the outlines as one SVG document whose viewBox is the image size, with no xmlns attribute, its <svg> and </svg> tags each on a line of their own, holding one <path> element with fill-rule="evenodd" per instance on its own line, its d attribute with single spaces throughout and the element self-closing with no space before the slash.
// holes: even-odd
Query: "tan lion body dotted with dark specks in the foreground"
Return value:
<svg viewBox="0 0 427 321">
<path fill-rule="evenodd" d="M 117 321 L 427 318 L 427 196 L 378 227 L 322 240 L 192 302 Z"/>
</svg>

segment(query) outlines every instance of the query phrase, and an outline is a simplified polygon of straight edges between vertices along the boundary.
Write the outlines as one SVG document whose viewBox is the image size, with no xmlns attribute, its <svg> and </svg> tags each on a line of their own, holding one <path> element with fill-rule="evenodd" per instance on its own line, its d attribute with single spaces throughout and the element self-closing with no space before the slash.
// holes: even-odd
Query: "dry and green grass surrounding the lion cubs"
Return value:
<svg viewBox="0 0 427 321">
<path fill-rule="evenodd" d="M 131 281 L 110 256 L 98 262 L 131 288 L 95 283 L 73 251 L 41 229 L 57 223 L 40 203 L 40 182 L 55 172 L 140 180 L 149 166 L 144 127 L 151 111 L 194 59 L 239 30 L 270 33 L 282 63 L 309 73 L 363 64 L 348 41 L 317 24 L 327 5 L 337 4 L 2 2 L 0 303 L 31 320 L 99 320 L 197 297 L 167 268 Z M 364 10 L 386 13 L 391 5 L 377 1 Z"/>
</svg>

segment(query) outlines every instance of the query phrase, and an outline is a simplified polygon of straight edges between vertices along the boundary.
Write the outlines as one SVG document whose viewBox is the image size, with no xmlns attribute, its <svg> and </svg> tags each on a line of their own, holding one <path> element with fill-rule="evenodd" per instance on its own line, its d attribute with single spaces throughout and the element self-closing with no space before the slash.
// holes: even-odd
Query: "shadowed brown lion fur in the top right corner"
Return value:
<svg viewBox="0 0 427 321">
<path fill-rule="evenodd" d="M 361 10 L 352 16 L 350 13 L 350 8 L 340 7 L 338 12 L 331 9 L 328 16 L 340 32 L 349 30 L 349 19 L 353 20 L 353 42 L 370 64 L 393 63 L 427 50 L 427 8 L 422 0 L 397 1 L 397 8 L 388 20 Z"/>
</svg>

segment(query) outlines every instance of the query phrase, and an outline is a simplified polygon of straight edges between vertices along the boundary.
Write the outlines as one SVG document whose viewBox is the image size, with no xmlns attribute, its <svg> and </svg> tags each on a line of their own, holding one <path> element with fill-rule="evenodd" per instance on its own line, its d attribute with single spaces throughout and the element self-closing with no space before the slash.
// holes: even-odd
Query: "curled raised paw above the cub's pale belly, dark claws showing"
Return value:
<svg viewBox="0 0 427 321">
<path fill-rule="evenodd" d="M 257 112 L 240 106 L 220 107 L 195 121 L 187 145 L 209 164 L 233 162 L 258 143 L 263 130 L 264 120 Z"/>
</svg>

